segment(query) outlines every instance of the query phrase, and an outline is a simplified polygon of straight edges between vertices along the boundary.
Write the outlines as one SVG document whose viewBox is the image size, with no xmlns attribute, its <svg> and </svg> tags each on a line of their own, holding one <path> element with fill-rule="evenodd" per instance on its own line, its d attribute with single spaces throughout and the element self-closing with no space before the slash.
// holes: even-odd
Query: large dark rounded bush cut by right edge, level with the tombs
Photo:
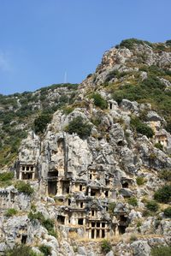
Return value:
<svg viewBox="0 0 171 256">
<path fill-rule="evenodd" d="M 171 184 L 164 185 L 162 188 L 159 188 L 154 194 L 154 199 L 159 203 L 164 204 L 171 202 Z"/>
</svg>

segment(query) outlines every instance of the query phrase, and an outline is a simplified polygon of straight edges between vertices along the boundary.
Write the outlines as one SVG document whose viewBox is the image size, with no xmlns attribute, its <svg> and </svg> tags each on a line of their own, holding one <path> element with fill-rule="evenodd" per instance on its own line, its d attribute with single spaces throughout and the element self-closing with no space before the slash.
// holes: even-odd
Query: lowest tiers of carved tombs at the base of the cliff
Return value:
<svg viewBox="0 0 171 256">
<path fill-rule="evenodd" d="M 73 199 L 74 204 L 72 204 Z M 57 221 L 61 225 L 82 227 L 86 237 L 90 239 L 108 238 L 126 232 L 129 224 L 126 212 L 115 212 L 113 216 L 113 213 L 109 211 L 112 203 L 108 200 L 92 199 L 88 196 L 81 199 L 77 194 L 77 198 L 68 199 L 67 203 L 68 206 L 59 207 Z"/>
</svg>

